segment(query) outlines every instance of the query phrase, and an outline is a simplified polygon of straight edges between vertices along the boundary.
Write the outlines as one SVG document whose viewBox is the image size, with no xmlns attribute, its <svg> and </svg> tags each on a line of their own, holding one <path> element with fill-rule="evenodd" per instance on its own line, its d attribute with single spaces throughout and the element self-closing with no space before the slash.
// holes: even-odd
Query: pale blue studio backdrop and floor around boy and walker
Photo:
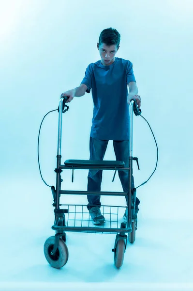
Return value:
<svg viewBox="0 0 193 291">
<path fill-rule="evenodd" d="M 97 284 L 105 282 L 100 290 L 103 286 L 113 290 L 115 284 L 127 284 L 131 290 L 151 290 L 152 284 L 158 284 L 152 290 L 159 290 L 160 284 L 169 286 L 164 290 L 176 290 L 175 284 L 182 284 L 186 290 L 193 283 L 192 13 L 190 0 L 1 1 L 3 288 L 16 290 L 26 284 L 28 290 L 34 282 L 43 290 L 40 282 L 81 282 L 79 288 L 90 290 L 91 284 L 98 290 Z M 138 189 L 136 241 L 128 244 L 121 270 L 113 265 L 114 235 L 72 232 L 67 241 L 69 261 L 59 271 L 48 265 L 43 252 L 45 240 L 54 235 L 54 213 L 51 191 L 38 169 L 38 131 L 44 115 L 58 108 L 60 94 L 79 86 L 87 66 L 100 59 L 96 44 L 108 27 L 121 35 L 116 56 L 133 63 L 142 114 L 159 147 L 158 168 Z M 63 114 L 62 161 L 89 159 L 91 93 L 74 97 L 68 105 L 69 111 Z M 57 134 L 58 113 L 54 112 L 46 116 L 40 135 L 41 169 L 49 185 L 56 183 Z M 138 186 L 148 179 L 156 162 L 153 137 L 139 116 L 134 117 L 134 156 L 140 165 L 138 171 L 134 164 Z M 104 159 L 115 160 L 112 141 Z M 71 171 L 62 174 L 63 190 L 86 190 L 88 171 L 75 171 L 74 183 Z M 113 174 L 104 172 L 102 191 L 122 191 L 118 175 L 112 183 Z M 72 196 L 62 199 L 75 201 Z M 78 199 L 87 203 L 86 196 Z M 103 197 L 102 203 L 124 206 L 125 201 Z"/>
</svg>

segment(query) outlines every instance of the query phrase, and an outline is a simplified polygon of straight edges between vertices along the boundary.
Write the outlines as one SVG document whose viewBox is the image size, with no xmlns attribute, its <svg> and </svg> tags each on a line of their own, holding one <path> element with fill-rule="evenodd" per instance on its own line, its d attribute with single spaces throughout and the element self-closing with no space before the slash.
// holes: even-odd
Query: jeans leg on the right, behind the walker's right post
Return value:
<svg viewBox="0 0 193 291">
<path fill-rule="evenodd" d="M 113 147 L 115 151 L 115 156 L 117 161 L 123 161 L 125 163 L 125 166 L 129 166 L 129 140 L 124 141 L 113 141 Z M 128 177 L 129 174 L 126 171 L 118 171 L 119 173 L 119 179 L 123 188 L 123 192 L 128 192 Z M 134 189 L 134 176 L 132 175 L 132 189 Z M 125 196 L 126 202 L 127 196 Z M 140 201 L 136 197 L 135 201 L 135 207 L 139 205 Z"/>
</svg>

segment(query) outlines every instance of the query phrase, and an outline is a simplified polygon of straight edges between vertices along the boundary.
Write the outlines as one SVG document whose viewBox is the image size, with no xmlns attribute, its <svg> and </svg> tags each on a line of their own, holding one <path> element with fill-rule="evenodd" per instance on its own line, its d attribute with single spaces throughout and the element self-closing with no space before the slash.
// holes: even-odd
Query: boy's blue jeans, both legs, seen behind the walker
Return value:
<svg viewBox="0 0 193 291">
<path fill-rule="evenodd" d="M 90 160 L 103 161 L 104 154 L 108 145 L 108 140 L 99 140 L 90 136 Z M 117 161 L 125 162 L 125 166 L 129 166 L 129 140 L 124 141 L 113 141 L 113 147 Z M 88 175 L 88 191 L 101 191 L 103 170 L 89 170 Z M 128 172 L 118 171 L 119 179 L 123 188 L 123 192 L 128 192 Z M 132 189 L 134 189 L 134 177 L 132 176 Z M 87 195 L 89 204 L 88 209 L 94 206 L 101 207 L 100 195 Z M 127 202 L 127 196 L 125 196 Z M 140 201 L 136 197 L 135 208 L 139 205 Z M 128 205 L 128 203 L 127 203 Z"/>
</svg>

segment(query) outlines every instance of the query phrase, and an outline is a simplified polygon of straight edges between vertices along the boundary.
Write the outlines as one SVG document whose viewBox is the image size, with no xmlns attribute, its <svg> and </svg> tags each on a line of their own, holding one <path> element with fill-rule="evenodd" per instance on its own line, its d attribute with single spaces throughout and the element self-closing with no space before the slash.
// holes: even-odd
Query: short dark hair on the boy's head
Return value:
<svg viewBox="0 0 193 291">
<path fill-rule="evenodd" d="M 112 27 L 104 29 L 99 36 L 99 46 L 105 44 L 110 47 L 112 45 L 117 45 L 119 47 L 120 43 L 120 33 Z"/>
</svg>

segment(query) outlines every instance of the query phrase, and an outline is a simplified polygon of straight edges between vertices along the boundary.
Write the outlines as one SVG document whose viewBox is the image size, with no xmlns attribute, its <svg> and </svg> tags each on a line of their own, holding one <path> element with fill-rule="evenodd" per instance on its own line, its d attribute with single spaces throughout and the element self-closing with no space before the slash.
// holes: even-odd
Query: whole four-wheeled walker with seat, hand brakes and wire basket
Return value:
<svg viewBox="0 0 193 291">
<path fill-rule="evenodd" d="M 56 231 L 54 236 L 49 237 L 44 244 L 45 259 L 54 268 L 63 267 L 69 257 L 68 248 L 66 245 L 66 232 L 92 232 L 92 233 L 114 233 L 115 244 L 112 252 L 114 253 L 114 264 L 120 268 L 123 264 L 124 253 L 127 246 L 127 234 L 130 243 L 135 241 L 135 230 L 137 226 L 137 218 L 134 215 L 136 189 L 132 189 L 132 174 L 133 160 L 138 159 L 133 157 L 133 113 L 137 116 L 141 114 L 141 110 L 137 107 L 136 101 L 132 100 L 129 105 L 129 167 L 125 167 L 122 161 L 90 161 L 90 160 L 67 160 L 64 164 L 61 163 L 61 134 L 62 134 L 62 113 L 65 113 L 69 106 L 65 104 L 68 97 L 61 97 L 59 100 L 59 126 L 58 126 L 58 152 L 57 152 L 57 167 L 56 172 L 56 189 L 51 186 L 51 191 L 54 199 L 53 206 L 55 221 L 52 229 Z M 66 109 L 64 109 L 66 107 Z M 65 191 L 61 190 L 61 172 L 65 169 L 72 170 L 72 182 L 74 179 L 75 169 L 84 170 L 114 170 L 128 171 L 128 193 L 126 192 L 92 192 L 92 191 Z M 138 165 L 139 169 L 139 165 Z M 113 180 L 115 178 L 115 174 Z M 121 206 L 101 206 L 101 212 L 105 215 L 106 223 L 104 225 L 92 225 L 92 220 L 89 216 L 87 205 L 71 205 L 60 204 L 59 198 L 61 194 L 67 195 L 117 195 L 128 196 L 128 221 L 120 223 L 120 215 L 122 218 L 123 211 L 126 207 Z M 60 209 L 60 206 L 64 208 Z M 120 223 L 120 227 L 119 227 Z M 91 225 L 91 226 L 90 226 Z"/>
</svg>

